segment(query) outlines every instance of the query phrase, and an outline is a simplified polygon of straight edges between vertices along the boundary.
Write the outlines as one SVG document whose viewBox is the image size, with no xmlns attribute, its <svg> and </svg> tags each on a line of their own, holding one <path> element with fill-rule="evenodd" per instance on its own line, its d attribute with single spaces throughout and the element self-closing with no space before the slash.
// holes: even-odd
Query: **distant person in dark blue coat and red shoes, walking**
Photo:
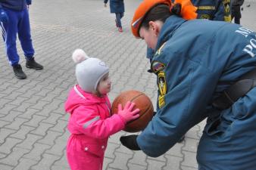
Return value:
<svg viewBox="0 0 256 170">
<path fill-rule="evenodd" d="M 105 7 L 107 7 L 108 0 L 104 0 Z M 110 0 L 111 13 L 116 14 L 116 26 L 119 32 L 123 32 L 121 18 L 124 13 L 124 3 L 123 0 Z"/>
</svg>

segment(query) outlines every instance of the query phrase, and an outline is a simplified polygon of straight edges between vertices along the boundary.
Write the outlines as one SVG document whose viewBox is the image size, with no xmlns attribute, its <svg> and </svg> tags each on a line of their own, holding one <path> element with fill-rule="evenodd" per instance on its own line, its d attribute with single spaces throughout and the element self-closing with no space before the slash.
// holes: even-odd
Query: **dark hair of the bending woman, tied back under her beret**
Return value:
<svg viewBox="0 0 256 170">
<path fill-rule="evenodd" d="M 165 22 L 165 20 L 170 17 L 172 14 L 176 14 L 180 16 L 181 11 L 181 5 L 176 4 L 171 8 L 168 5 L 164 4 L 158 4 L 155 7 L 151 8 L 150 11 L 148 11 L 147 14 L 145 14 L 145 17 L 142 20 L 142 24 L 140 27 L 145 27 L 145 29 L 149 28 L 149 21 L 155 21 L 160 20 L 161 22 Z"/>
</svg>

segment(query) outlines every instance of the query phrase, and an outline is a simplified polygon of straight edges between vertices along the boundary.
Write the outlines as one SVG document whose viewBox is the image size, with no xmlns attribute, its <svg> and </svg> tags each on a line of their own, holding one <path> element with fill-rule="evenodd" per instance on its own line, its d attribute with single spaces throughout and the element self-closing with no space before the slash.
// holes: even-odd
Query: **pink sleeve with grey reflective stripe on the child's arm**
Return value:
<svg viewBox="0 0 256 170">
<path fill-rule="evenodd" d="M 123 118 L 114 114 L 107 119 L 101 119 L 99 114 L 89 107 L 78 107 L 71 116 L 72 124 L 83 134 L 93 138 L 108 138 L 124 128 Z"/>
</svg>

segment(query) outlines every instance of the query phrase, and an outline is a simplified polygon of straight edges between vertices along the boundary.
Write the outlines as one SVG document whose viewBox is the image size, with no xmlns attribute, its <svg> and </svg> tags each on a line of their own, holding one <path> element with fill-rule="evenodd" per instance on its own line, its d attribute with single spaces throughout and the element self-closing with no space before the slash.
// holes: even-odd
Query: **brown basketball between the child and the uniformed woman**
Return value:
<svg viewBox="0 0 256 170">
<path fill-rule="evenodd" d="M 139 108 L 139 118 L 134 119 L 131 122 L 127 122 L 126 127 L 123 130 L 127 132 L 142 131 L 153 117 L 153 104 L 150 98 L 141 91 L 123 91 L 114 99 L 111 107 L 111 114 L 118 112 L 118 104 L 122 104 L 123 108 L 127 101 L 131 101 L 136 104 L 133 110 Z"/>
</svg>

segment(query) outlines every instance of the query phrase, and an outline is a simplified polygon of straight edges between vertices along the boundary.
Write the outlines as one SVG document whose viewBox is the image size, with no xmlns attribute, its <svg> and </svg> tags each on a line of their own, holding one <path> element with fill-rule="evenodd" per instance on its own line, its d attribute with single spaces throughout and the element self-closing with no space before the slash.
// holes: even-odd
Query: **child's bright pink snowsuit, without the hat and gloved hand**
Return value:
<svg viewBox="0 0 256 170">
<path fill-rule="evenodd" d="M 70 113 L 67 161 L 72 170 L 101 170 L 108 137 L 124 128 L 121 116 L 110 117 L 108 96 L 97 97 L 75 85 L 65 103 Z"/>
</svg>

